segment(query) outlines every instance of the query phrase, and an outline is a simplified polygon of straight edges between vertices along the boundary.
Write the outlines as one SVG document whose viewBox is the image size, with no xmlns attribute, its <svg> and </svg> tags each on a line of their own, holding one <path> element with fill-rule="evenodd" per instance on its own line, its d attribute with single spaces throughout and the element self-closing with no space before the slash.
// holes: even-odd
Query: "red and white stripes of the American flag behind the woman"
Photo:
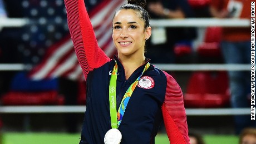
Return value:
<svg viewBox="0 0 256 144">
<path fill-rule="evenodd" d="M 88 13 L 98 44 L 109 57 L 116 53 L 112 42 L 112 18 L 115 9 L 124 3 L 124 0 L 101 1 Z M 42 61 L 33 67 L 29 76 L 33 80 L 60 76 L 70 80 L 81 80 L 83 78 L 70 34 L 67 34 L 66 37 L 47 49 Z"/>
</svg>

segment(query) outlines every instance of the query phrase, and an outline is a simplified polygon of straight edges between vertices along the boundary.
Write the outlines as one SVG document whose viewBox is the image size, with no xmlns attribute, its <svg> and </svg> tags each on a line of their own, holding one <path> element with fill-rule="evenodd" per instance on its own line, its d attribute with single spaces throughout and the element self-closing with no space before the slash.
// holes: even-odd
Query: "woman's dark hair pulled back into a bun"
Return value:
<svg viewBox="0 0 256 144">
<path fill-rule="evenodd" d="M 149 13 L 145 9 L 146 1 L 145 0 L 128 0 L 127 4 L 122 5 L 120 8 L 116 10 L 116 12 L 121 9 L 133 9 L 134 11 L 139 12 L 140 18 L 144 21 L 144 28 L 149 27 Z M 116 12 L 114 17 L 116 16 Z"/>
</svg>

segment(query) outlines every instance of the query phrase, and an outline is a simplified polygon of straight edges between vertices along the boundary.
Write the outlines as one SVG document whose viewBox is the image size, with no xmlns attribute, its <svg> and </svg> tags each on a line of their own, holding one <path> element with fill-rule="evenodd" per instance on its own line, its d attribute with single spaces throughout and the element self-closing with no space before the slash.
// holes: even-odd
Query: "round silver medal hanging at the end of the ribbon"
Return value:
<svg viewBox="0 0 256 144">
<path fill-rule="evenodd" d="M 112 128 L 109 131 L 107 131 L 104 137 L 105 144 L 119 144 L 121 140 L 122 140 L 122 134 L 116 128 Z"/>
</svg>

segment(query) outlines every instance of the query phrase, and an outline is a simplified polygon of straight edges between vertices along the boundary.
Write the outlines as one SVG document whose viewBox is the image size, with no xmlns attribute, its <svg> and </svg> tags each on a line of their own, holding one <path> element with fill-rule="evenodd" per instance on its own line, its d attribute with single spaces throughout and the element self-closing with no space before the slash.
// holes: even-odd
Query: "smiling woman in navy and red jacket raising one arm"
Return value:
<svg viewBox="0 0 256 144">
<path fill-rule="evenodd" d="M 155 143 L 163 119 L 171 143 L 189 143 L 178 83 L 144 56 L 151 35 L 149 14 L 141 7 L 146 2 L 129 3 L 114 14 L 112 37 L 118 56 L 110 59 L 97 44 L 83 0 L 65 0 L 87 85 L 80 143 Z"/>
</svg>

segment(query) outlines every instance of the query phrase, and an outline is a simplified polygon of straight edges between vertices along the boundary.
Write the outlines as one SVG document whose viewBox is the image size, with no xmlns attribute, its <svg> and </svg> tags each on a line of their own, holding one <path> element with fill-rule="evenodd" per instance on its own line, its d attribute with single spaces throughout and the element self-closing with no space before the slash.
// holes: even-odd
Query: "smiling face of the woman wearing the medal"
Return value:
<svg viewBox="0 0 256 144">
<path fill-rule="evenodd" d="M 150 35 L 151 27 L 144 29 L 144 21 L 136 15 L 136 11 L 121 9 L 116 13 L 112 38 L 119 54 L 144 54 L 145 39 Z"/>
</svg>

